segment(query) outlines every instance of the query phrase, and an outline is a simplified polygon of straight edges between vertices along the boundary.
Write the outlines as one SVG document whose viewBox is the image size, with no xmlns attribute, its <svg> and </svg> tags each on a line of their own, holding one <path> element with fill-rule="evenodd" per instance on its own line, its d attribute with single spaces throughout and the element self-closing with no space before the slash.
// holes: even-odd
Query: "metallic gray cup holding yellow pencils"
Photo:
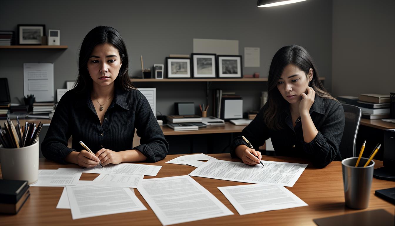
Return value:
<svg viewBox="0 0 395 226">
<path fill-rule="evenodd" d="M 358 157 L 346 158 L 342 161 L 344 199 L 346 206 L 352 209 L 366 209 L 369 205 L 374 161 L 367 167 L 367 158 L 361 158 L 359 167 L 355 167 Z"/>
</svg>

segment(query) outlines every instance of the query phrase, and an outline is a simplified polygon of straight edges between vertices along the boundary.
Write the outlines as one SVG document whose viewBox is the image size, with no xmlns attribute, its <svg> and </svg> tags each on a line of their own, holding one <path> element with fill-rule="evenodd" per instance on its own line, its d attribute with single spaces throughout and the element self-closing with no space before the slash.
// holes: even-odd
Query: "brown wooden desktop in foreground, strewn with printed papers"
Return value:
<svg viewBox="0 0 395 226">
<path fill-rule="evenodd" d="M 195 167 L 188 165 L 176 165 L 165 163 L 179 155 L 169 155 L 164 160 L 150 165 L 162 165 L 157 177 L 169 177 L 187 175 Z M 231 159 L 229 154 L 211 154 L 220 160 L 240 161 Z M 264 156 L 265 160 L 288 161 L 297 163 L 308 163 L 306 160 Z M 382 165 L 381 161 L 376 161 L 375 168 Z M 77 165 L 60 165 L 49 160 L 40 159 L 40 169 L 57 169 L 58 167 L 76 168 Z M 98 174 L 83 173 L 80 180 L 93 180 Z M 145 179 L 155 178 L 145 176 Z M 373 178 L 369 207 L 365 210 L 349 209 L 344 206 L 344 190 L 342 181 L 342 169 L 340 161 L 333 161 L 324 169 L 315 169 L 308 165 L 299 180 L 292 188 L 287 187 L 296 196 L 305 201 L 308 206 L 292 209 L 283 209 L 254 213 L 240 216 L 228 199 L 218 190 L 220 186 L 233 186 L 246 184 L 227 180 L 216 180 L 201 177 L 192 177 L 199 184 L 205 187 L 216 198 L 218 198 L 234 215 L 194 222 L 183 225 L 315 225 L 312 219 L 355 213 L 365 210 L 385 209 L 389 213 L 394 213 L 394 205 L 374 196 L 374 190 L 395 187 L 395 182 L 378 180 Z M 71 219 L 69 209 L 56 209 L 56 205 L 62 194 L 62 187 L 31 187 L 30 198 L 26 201 L 21 211 L 17 215 L 0 215 L 0 224 L 3 225 L 161 225 L 158 218 L 142 198 L 137 189 L 134 189 L 136 196 L 143 202 L 147 211 L 137 211 L 130 213 L 120 213 L 117 215 L 105 215 L 99 217 Z"/>
</svg>

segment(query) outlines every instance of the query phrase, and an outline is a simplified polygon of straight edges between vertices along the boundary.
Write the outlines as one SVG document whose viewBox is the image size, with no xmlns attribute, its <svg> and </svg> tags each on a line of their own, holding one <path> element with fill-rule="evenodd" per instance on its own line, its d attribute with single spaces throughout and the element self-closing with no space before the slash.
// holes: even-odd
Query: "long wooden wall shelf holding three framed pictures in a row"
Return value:
<svg viewBox="0 0 395 226">
<path fill-rule="evenodd" d="M 325 77 L 320 78 L 325 80 Z M 132 82 L 267 82 L 267 78 L 131 78 Z"/>
</svg>

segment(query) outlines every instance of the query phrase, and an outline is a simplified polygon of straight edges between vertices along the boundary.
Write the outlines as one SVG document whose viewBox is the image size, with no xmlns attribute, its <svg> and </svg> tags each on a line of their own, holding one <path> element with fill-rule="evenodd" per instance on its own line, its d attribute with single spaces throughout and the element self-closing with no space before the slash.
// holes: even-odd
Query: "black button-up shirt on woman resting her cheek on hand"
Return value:
<svg viewBox="0 0 395 226">
<path fill-rule="evenodd" d="M 325 167 L 333 160 L 342 160 L 339 145 L 345 120 L 343 106 L 338 101 L 315 96 L 310 108 L 310 116 L 318 134 L 309 143 L 303 139 L 302 122 L 297 122 L 295 128 L 293 127 L 289 108 L 280 112 L 284 128 L 279 131 L 269 129 L 263 122 L 266 108 L 267 104 L 241 132 L 252 146 L 258 148 L 270 137 L 276 156 L 308 158 L 316 167 Z M 241 144 L 247 145 L 241 136 L 233 140 L 231 144 L 233 158 L 237 158 L 235 148 Z"/>
</svg>

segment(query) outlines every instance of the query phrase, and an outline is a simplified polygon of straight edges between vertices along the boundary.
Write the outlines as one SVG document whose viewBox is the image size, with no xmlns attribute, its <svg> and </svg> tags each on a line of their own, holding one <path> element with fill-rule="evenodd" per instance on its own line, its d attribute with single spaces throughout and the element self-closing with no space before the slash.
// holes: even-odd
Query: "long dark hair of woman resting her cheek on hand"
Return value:
<svg viewBox="0 0 395 226">
<path fill-rule="evenodd" d="M 307 50 L 301 46 L 284 46 L 276 52 L 272 59 L 267 82 L 268 106 L 263 120 L 267 127 L 273 130 L 283 128 L 283 122 L 280 122 L 279 113 L 289 106 L 289 103 L 282 97 L 277 88 L 278 79 L 281 77 L 284 68 L 289 64 L 299 67 L 300 70 L 305 72 L 306 77 L 308 77 L 308 72 L 311 68 L 313 70 L 313 78 L 309 86 L 316 91 L 319 97 L 336 100 L 325 90 L 324 85 L 322 85 L 317 68 Z"/>
</svg>

